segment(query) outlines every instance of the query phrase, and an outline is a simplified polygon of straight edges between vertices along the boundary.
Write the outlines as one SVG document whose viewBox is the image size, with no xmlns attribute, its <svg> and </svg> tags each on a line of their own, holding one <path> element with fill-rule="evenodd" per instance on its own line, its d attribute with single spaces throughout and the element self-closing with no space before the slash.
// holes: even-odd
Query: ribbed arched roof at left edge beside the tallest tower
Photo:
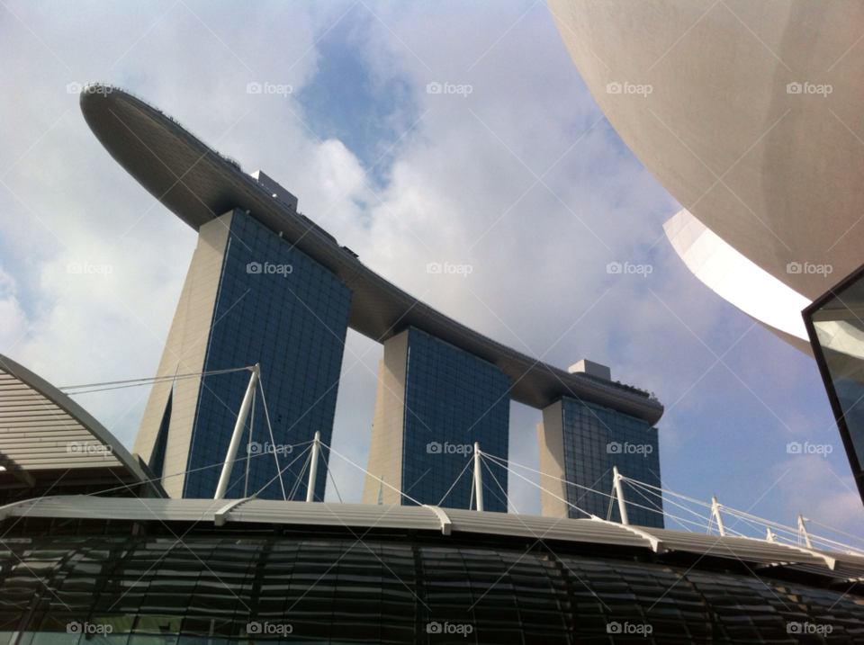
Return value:
<svg viewBox="0 0 864 645">
<path fill-rule="evenodd" d="M 105 477 L 149 478 L 139 462 L 84 408 L 0 354 L 0 483 Z M 66 471 L 69 471 L 68 473 Z"/>
</svg>

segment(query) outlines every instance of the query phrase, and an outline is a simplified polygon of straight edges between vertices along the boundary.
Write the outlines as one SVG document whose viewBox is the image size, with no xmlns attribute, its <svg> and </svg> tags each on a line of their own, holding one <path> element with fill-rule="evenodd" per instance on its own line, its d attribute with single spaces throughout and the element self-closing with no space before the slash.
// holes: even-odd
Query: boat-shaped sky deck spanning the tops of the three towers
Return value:
<svg viewBox="0 0 864 645">
<path fill-rule="evenodd" d="M 351 328 L 382 343 L 417 327 L 497 365 L 509 375 L 512 399 L 545 408 L 562 396 L 613 408 L 649 424 L 663 414 L 646 392 L 581 373 L 569 373 L 501 345 L 446 317 L 370 270 L 311 219 L 275 199 L 233 159 L 179 123 L 110 85 L 87 85 L 81 111 L 96 139 L 148 193 L 194 229 L 234 208 L 249 211 L 336 273 L 354 292 Z"/>
</svg>

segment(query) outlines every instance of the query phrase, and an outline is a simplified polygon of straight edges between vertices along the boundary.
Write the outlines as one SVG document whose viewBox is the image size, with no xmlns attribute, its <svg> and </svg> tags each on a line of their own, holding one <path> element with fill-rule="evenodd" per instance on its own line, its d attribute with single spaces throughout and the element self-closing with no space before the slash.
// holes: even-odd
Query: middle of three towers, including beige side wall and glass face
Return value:
<svg viewBox="0 0 864 645">
<path fill-rule="evenodd" d="M 420 504 L 472 507 L 474 443 L 508 458 L 509 376 L 414 327 L 384 344 L 380 372 L 371 475 Z M 486 461 L 482 479 L 483 509 L 506 513 L 507 470 Z M 413 504 L 367 477 L 364 501 L 379 500 Z"/>
</svg>

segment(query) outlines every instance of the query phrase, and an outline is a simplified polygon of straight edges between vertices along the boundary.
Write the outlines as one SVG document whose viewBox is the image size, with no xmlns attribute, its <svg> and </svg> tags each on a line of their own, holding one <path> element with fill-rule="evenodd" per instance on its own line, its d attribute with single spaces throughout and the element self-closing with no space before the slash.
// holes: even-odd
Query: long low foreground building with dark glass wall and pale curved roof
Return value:
<svg viewBox="0 0 864 645">
<path fill-rule="evenodd" d="M 416 506 L 252 500 L 214 525 L 219 506 L 14 509 L 0 645 L 864 641 L 858 556 L 829 567 L 779 543 L 645 529 L 653 551 L 620 524 L 499 515 L 491 529 L 457 510 L 442 534 Z"/>
</svg>

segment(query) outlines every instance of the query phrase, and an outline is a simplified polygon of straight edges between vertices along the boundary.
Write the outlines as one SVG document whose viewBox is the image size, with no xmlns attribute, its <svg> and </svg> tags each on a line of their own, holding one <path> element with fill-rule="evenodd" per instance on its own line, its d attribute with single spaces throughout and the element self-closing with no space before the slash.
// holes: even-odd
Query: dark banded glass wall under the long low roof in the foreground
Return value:
<svg viewBox="0 0 864 645">
<path fill-rule="evenodd" d="M 362 544 L 323 533 L 193 532 L 181 541 L 63 524 L 65 536 L 7 535 L 0 645 L 864 639 L 864 597 L 849 585 L 758 578 L 743 567 L 717 572 L 410 533 Z M 789 632 L 805 623 L 831 629 Z M 446 633 L 448 624 L 470 632 Z M 610 635 L 627 624 L 650 626 L 650 637 Z"/>
</svg>

